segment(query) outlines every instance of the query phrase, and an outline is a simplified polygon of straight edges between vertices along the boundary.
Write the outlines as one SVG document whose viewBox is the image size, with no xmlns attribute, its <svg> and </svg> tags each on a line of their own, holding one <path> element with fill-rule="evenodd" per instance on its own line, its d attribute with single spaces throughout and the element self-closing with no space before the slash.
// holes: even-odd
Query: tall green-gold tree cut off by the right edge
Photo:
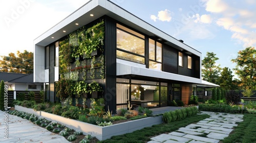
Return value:
<svg viewBox="0 0 256 143">
<path fill-rule="evenodd" d="M 243 89 L 256 88 L 256 50 L 254 47 L 247 47 L 245 50 L 238 52 L 238 57 L 231 61 L 237 63 L 233 68 L 239 78 L 238 86 Z"/>
</svg>

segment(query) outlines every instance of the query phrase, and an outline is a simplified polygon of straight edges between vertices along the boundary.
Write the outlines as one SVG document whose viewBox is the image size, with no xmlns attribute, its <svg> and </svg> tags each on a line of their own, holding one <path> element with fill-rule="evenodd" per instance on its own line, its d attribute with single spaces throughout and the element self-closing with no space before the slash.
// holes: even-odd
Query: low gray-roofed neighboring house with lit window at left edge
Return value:
<svg viewBox="0 0 256 143">
<path fill-rule="evenodd" d="M 0 80 L 8 85 L 8 90 L 40 91 L 44 84 L 34 83 L 33 74 L 17 74 L 0 72 Z"/>
</svg>

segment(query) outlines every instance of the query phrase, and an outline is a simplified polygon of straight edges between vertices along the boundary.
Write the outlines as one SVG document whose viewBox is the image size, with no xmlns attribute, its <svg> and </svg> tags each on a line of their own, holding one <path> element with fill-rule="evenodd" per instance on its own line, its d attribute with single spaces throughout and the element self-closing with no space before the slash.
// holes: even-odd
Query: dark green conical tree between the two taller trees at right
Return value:
<svg viewBox="0 0 256 143">
<path fill-rule="evenodd" d="M 221 88 L 227 90 L 236 88 L 236 85 L 234 84 L 233 81 L 232 71 L 228 67 L 222 68 L 218 82 Z"/>
</svg>

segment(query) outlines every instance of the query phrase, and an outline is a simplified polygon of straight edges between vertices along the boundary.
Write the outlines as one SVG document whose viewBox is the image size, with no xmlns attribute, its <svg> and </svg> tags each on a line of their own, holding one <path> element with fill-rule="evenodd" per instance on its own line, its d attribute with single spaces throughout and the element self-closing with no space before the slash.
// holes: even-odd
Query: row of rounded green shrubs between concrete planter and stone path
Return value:
<svg viewBox="0 0 256 143">
<path fill-rule="evenodd" d="M 175 122 L 175 121 L 181 121 L 184 118 L 186 118 L 187 116 L 197 114 L 197 112 L 198 112 L 198 109 L 196 106 L 177 109 L 175 111 L 165 112 L 163 114 L 163 122 L 170 123 L 170 122 Z"/>
</svg>

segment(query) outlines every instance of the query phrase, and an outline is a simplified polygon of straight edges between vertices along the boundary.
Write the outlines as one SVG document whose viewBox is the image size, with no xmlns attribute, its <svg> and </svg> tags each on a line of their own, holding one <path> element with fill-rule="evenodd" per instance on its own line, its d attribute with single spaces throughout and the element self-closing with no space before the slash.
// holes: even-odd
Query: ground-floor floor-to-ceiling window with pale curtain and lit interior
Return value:
<svg viewBox="0 0 256 143">
<path fill-rule="evenodd" d="M 127 108 L 129 101 L 133 108 L 167 106 L 167 83 L 117 78 L 116 87 L 117 109 Z"/>
</svg>

